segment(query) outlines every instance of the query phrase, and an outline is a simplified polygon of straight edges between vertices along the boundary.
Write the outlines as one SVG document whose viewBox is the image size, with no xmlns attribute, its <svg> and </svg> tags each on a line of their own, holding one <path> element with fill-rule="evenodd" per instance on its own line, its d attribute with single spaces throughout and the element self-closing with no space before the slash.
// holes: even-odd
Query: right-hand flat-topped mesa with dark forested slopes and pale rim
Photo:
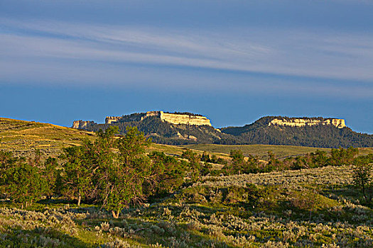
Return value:
<svg viewBox="0 0 373 248">
<path fill-rule="evenodd" d="M 233 135 L 242 144 L 373 147 L 373 135 L 356 133 L 340 119 L 266 116 L 243 127 L 221 130 Z"/>
</svg>

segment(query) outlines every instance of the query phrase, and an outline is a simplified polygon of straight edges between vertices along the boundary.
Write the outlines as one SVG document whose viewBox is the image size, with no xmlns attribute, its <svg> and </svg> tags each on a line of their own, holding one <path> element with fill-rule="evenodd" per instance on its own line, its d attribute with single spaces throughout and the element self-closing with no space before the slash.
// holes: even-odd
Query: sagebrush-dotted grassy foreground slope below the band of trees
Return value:
<svg viewBox="0 0 373 248">
<path fill-rule="evenodd" d="M 95 205 L 0 203 L 1 247 L 372 247 L 351 168 L 207 176 L 119 219 Z"/>
</svg>

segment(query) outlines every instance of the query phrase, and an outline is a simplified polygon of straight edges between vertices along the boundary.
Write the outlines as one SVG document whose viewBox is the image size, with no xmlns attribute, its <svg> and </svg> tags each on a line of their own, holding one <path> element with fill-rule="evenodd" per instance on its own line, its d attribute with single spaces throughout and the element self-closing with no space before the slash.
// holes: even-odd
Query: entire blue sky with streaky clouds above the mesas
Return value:
<svg viewBox="0 0 373 248">
<path fill-rule="evenodd" d="M 373 0 L 0 0 L 0 116 L 188 111 L 373 133 Z"/>
</svg>

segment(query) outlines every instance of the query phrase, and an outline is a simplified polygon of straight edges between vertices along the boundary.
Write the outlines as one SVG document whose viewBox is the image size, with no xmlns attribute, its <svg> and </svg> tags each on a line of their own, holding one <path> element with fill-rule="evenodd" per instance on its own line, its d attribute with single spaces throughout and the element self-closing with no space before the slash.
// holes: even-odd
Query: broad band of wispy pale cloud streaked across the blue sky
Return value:
<svg viewBox="0 0 373 248">
<path fill-rule="evenodd" d="M 198 80 L 197 76 L 188 75 L 193 68 L 227 72 L 231 76 L 225 76 L 225 84 L 238 88 L 252 87 L 255 82 L 250 81 L 250 77 L 234 76 L 235 73 L 308 77 L 318 81 L 343 79 L 369 84 L 373 81 L 372 34 L 315 34 L 254 28 L 214 32 L 58 21 L 26 23 L 6 18 L 0 19 L 0 23 L 0 81 L 99 84 L 102 80 L 107 84 L 137 81 L 146 85 L 155 84 L 155 80 L 170 81 L 168 76 L 172 73 L 164 67 L 185 68 L 185 72 L 179 70 L 172 74 L 173 86 L 185 86 L 185 80 L 180 80 L 183 77 Z M 163 67 L 162 73 L 157 73 L 159 66 Z M 203 79 L 201 84 L 207 84 L 206 81 L 210 80 Z M 201 84 L 197 85 L 203 86 Z M 219 80 L 215 84 L 220 84 Z M 289 83 L 277 80 L 272 87 L 284 89 L 286 84 Z M 293 89 L 318 91 L 301 84 Z M 333 87 L 321 89 L 338 89 Z M 366 86 L 355 89 L 361 88 Z M 372 88 L 363 91 L 363 95 L 372 94 Z"/>
</svg>

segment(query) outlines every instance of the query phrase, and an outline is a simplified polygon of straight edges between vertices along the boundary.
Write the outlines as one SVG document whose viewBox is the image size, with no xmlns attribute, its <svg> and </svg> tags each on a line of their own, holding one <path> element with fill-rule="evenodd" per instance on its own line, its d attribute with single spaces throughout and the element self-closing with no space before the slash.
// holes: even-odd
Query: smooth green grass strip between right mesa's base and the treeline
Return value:
<svg viewBox="0 0 373 248">
<path fill-rule="evenodd" d="M 245 156 L 252 154 L 260 158 L 266 158 L 267 152 L 272 151 L 276 157 L 283 158 L 288 156 L 295 156 L 315 152 L 316 150 L 323 150 L 330 152 L 328 148 L 315 147 L 298 147 L 292 145 L 215 145 L 215 144 L 195 144 L 183 145 L 181 147 L 190 148 L 193 150 L 201 150 L 207 152 L 217 152 L 222 154 L 229 154 L 231 150 L 242 150 Z M 373 148 L 359 148 L 360 154 L 369 154 L 373 152 Z"/>
</svg>

